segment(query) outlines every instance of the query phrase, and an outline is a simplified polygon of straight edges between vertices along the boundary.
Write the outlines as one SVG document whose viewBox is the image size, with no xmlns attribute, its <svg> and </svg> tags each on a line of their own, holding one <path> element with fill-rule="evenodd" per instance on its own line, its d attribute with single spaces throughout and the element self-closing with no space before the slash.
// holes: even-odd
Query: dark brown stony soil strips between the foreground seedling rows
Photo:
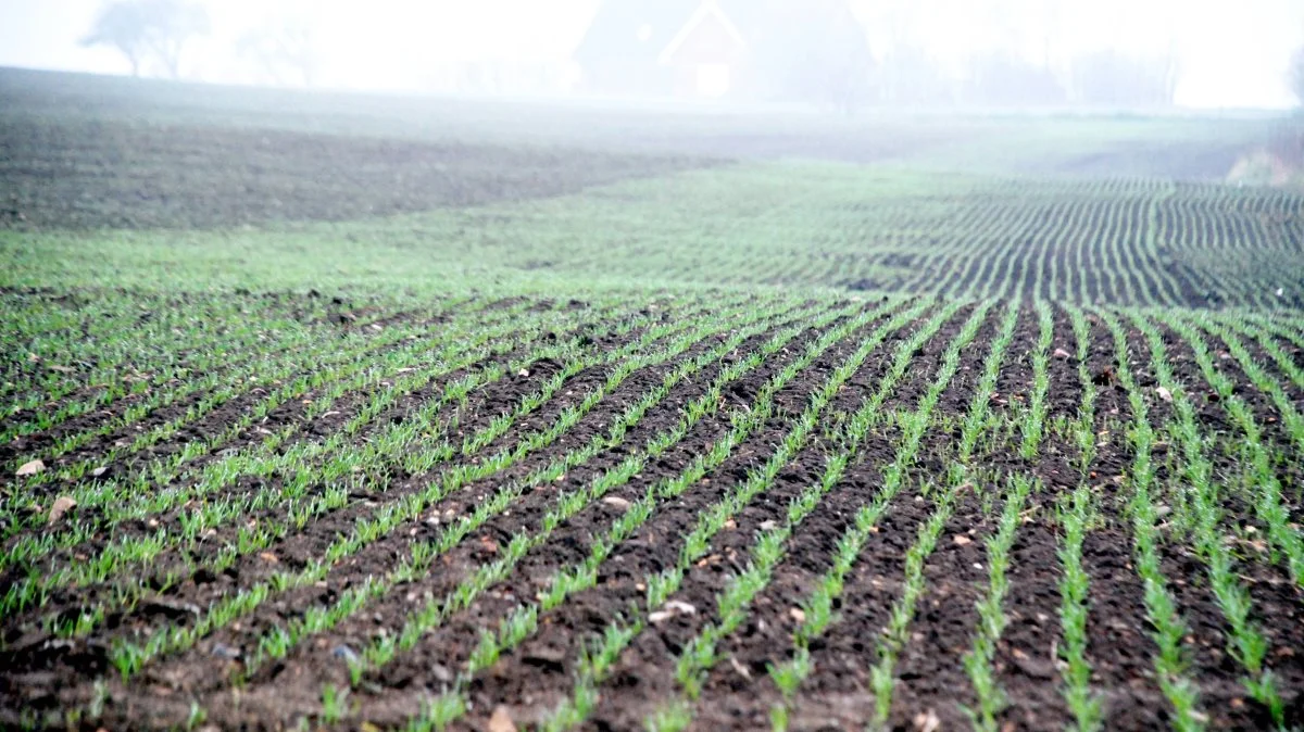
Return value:
<svg viewBox="0 0 1304 732">
<path fill-rule="evenodd" d="M 808 313 L 811 307 L 810 303 L 798 307 L 792 317 Z M 936 337 L 913 354 L 910 369 L 884 402 L 885 414 L 909 410 L 918 404 L 938 374 L 947 344 L 970 313 L 970 307 L 962 309 Z M 666 314 L 666 318 L 673 315 Z M 861 729 L 871 718 L 874 696 L 868 673 L 878 662 L 880 634 L 901 591 L 905 554 L 936 509 L 936 488 L 944 481 L 947 468 L 957 460 L 960 419 L 975 397 L 982 362 L 995 339 L 999 320 L 1000 306 L 988 313 L 978 337 L 961 352 L 961 367 L 941 395 L 934 425 L 906 474 L 905 488 L 888 505 L 853 565 L 845 589 L 835 602 L 835 623 L 825 634 L 812 640 L 812 671 L 792 705 L 792 729 Z M 852 353 L 859 339 L 882 322 L 863 327 L 798 373 L 776 396 L 777 409 L 772 418 L 724 465 L 678 499 L 661 501 L 648 521 L 615 547 L 600 567 L 596 586 L 575 593 L 558 608 L 540 613 L 537 630 L 507 650 L 490 668 L 471 677 L 464 686 L 471 706 L 454 728 L 484 729 L 490 715 L 503 707 L 523 729 L 566 699 L 574 689 L 583 649 L 613 620 L 647 612 L 640 585 L 643 577 L 677 561 L 683 537 L 698 516 L 769 457 L 775 444 L 790 430 L 793 417 L 808 404 L 814 389 Z M 1131 370 L 1146 395 L 1149 418 L 1159 430 L 1155 496 L 1157 500 L 1171 501 L 1181 482 L 1180 451 L 1167 444 L 1166 423 L 1174 417 L 1174 410 L 1155 396 L 1157 382 L 1150 375 L 1144 336 L 1125 320 L 1121 322 L 1127 330 Z M 707 555 L 689 568 L 678 593 L 673 595 L 694 606 L 696 612 L 648 625 L 632 638 L 617 658 L 610 675 L 599 685 L 597 705 L 582 728 L 639 729 L 648 714 L 679 694 L 675 658 L 708 623 L 717 620 L 717 593 L 747 567 L 758 531 L 771 521 L 784 521 L 789 501 L 823 472 L 824 460 L 835 448 L 825 442 L 824 425 L 836 425 L 837 414 L 850 414 L 862 400 L 879 389 L 897 344 L 922 323 L 923 319 L 919 319 L 892 333 L 870 354 L 833 396 L 822 429 L 778 473 L 775 483 L 712 538 Z M 587 326 L 580 330 L 583 327 Z M 1193 396 L 1205 395 L 1208 384 L 1191 358 L 1189 345 L 1167 328 L 1161 330 L 1179 380 Z M 1031 395 L 1031 352 L 1037 333 L 1035 313 L 1024 310 L 995 393 L 987 395 L 995 417 L 995 436 L 981 443 L 971 460 L 977 485 L 960 491 L 938 546 L 925 561 L 925 591 L 908 629 L 909 640 L 895 666 L 896 689 L 889 714 L 889 725 L 895 729 L 917 729 L 917 720 L 926 722 L 930 715 L 943 729 L 969 725 L 964 710 L 974 706 L 975 696 L 962 658 L 971 647 L 975 632 L 978 615 L 974 603 L 983 597 L 988 584 L 985 539 L 996 528 L 1003 504 L 1000 486 L 1011 474 L 1034 477 L 1039 488 L 1029 496 L 1011 552 L 1009 589 L 1003 604 L 1009 623 L 998 642 L 992 668 L 1008 701 L 998 718 L 1000 728 L 1033 731 L 1072 723 L 1060 676 L 1061 569 L 1056 550 L 1061 535 L 1055 505 L 1080 483 L 1095 496 L 1101 513 L 1099 524 L 1086 535 L 1082 556 L 1090 578 L 1086 655 L 1093 671 L 1091 690 L 1102 702 L 1108 728 L 1154 729 L 1171 723 L 1171 706 L 1154 676 L 1155 645 L 1153 629 L 1146 621 L 1145 589 L 1133 564 L 1134 546 L 1125 503 L 1129 495 L 1127 475 L 1134 458 L 1125 426 L 1133 415 L 1116 378 L 1112 337 L 1104 323 L 1093 317 L 1085 366 L 1098 384 L 1094 429 L 1099 444 L 1094 460 L 1080 474 L 1077 444 L 1072 435 L 1052 425 L 1047 425 L 1035 460 L 1025 460 L 1017 453 L 1022 435 L 1013 425 L 1025 413 Z M 597 336 L 588 348 L 618 348 L 638 335 L 639 331 L 623 336 Z M 802 332 L 785 349 L 726 388 L 719 412 L 704 417 L 682 443 L 627 483 L 614 487 L 609 498 L 636 500 L 656 482 L 678 475 L 730 429 L 730 409 L 750 402 L 767 379 L 798 358 L 818 336 L 814 331 Z M 108 666 L 108 651 L 116 641 L 160 628 L 164 623 L 185 625 L 190 623 L 192 608 L 202 612 L 210 603 L 254 586 L 276 569 L 303 567 L 321 556 L 338 535 L 351 531 L 359 520 L 376 516 L 385 505 L 424 490 L 437 479 L 438 470 L 408 475 L 393 466 L 385 492 L 360 494 L 348 505 L 317 517 L 303 531 L 291 531 L 278 539 L 267 552 L 237 556 L 226 572 L 197 569 L 205 557 L 164 552 L 150 563 L 149 572 L 156 577 L 164 568 L 171 568 L 181 573 L 181 581 L 133 608 L 116 612 L 86 638 L 51 636 L 42 628 L 40 620 L 74 617 L 86 603 L 108 597 L 111 586 L 89 587 L 85 593 L 55 593 L 39 610 L 4 617 L 0 628 L 4 632 L 0 645 L 0 664 L 4 668 L 0 672 L 0 723 L 16 725 L 22 720 L 35 720 L 63 725 L 67 712 L 81 710 L 82 716 L 74 720 L 74 727 L 166 728 L 185 723 L 194 702 L 205 711 L 206 724 L 219 729 L 279 729 L 295 727 L 300 720 L 318 725 L 323 722 L 323 684 L 342 688 L 349 684 L 343 658 L 361 653 L 382 634 L 398 633 L 428 598 L 442 597 L 479 568 L 502 556 L 503 547 L 514 535 L 537 533 L 542 516 L 557 505 L 559 496 L 614 468 L 632 449 L 677 423 L 681 410 L 704 393 L 726 363 L 759 348 L 768 335 L 750 337 L 724 362 L 708 365 L 675 384 L 621 444 L 600 451 L 556 482 L 531 486 L 509 511 L 493 514 L 439 556 L 425 574 L 372 599 L 327 632 L 304 638 L 283 659 L 259 667 L 246 681 L 235 684 L 235 675 L 254 655 L 259 638 L 273 628 L 301 617 L 313 606 L 331 604 L 340 593 L 361 586 L 368 577 L 385 577 L 415 542 L 434 541 L 441 535 L 445 524 L 432 522 L 430 517 L 473 511 L 511 481 L 604 434 L 610 421 L 634 404 L 639 395 L 655 388 L 677 365 L 713 348 L 722 337 L 726 335 L 707 337 L 665 365 L 635 371 L 553 447 L 527 453 L 493 478 L 450 492 L 422 512 L 421 520 L 400 525 L 340 560 L 330 568 L 323 582 L 273 590 L 267 600 L 252 612 L 203 634 L 188 650 L 153 659 L 126 683 Z M 1051 350 L 1058 348 L 1076 353 L 1072 328 L 1063 311 L 1056 311 L 1054 320 Z M 1217 353 L 1222 344 L 1211 339 L 1210 348 Z M 1265 422 L 1265 436 L 1271 440 L 1273 449 L 1288 455 L 1283 452 L 1288 443 L 1281 427 L 1266 425 L 1267 417 L 1275 414 L 1275 406 L 1253 393 L 1247 376 L 1232 361 L 1219 359 L 1218 363 L 1219 370 L 1235 382 L 1237 395 L 1247 400 L 1256 418 Z M 1277 375 L 1275 369 L 1265 366 Z M 528 375 L 506 376 L 477 389 L 459 412 L 463 417 L 459 429 L 466 432 L 486 425 L 494 414 L 537 388 L 558 367 L 536 362 L 529 366 Z M 511 447 L 528 432 L 550 423 L 606 375 L 606 367 L 574 375 L 557 397 L 494 440 L 482 455 Z M 455 378 L 455 374 L 447 378 Z M 441 383 L 442 379 L 404 396 L 356 439 L 365 439 L 387 421 L 403 419 L 404 414 L 434 399 Z M 1081 399 L 1076 359 L 1052 357 L 1050 383 L 1047 401 L 1051 422 L 1073 418 Z M 359 404 L 351 396 L 342 401 L 342 410 L 349 412 Z M 1223 412 L 1223 405 L 1205 400 L 1200 404 L 1198 419 L 1201 427 L 1215 438 L 1210 440 L 1210 455 L 1227 485 L 1223 526 L 1234 533 L 1239 525 L 1257 525 L 1257 517 L 1239 487 L 1244 466 L 1237 464 L 1237 453 L 1232 449 L 1237 439 L 1235 425 Z M 235 418 L 233 412 L 220 414 Z M 276 423 L 291 423 L 293 419 L 291 410 L 278 417 Z M 200 425 L 215 430 L 220 427 L 218 422 L 214 417 L 214 421 L 201 421 Z M 331 422 L 334 429 L 339 423 Z M 325 432 L 304 439 L 323 436 Z M 792 658 L 793 630 L 797 626 L 793 608 L 831 567 L 836 543 L 855 511 L 882 488 L 883 470 L 893 460 L 900 438 L 900 426 L 891 418 L 875 426 L 844 479 L 797 526 L 773 578 L 750 603 L 745 623 L 717 646 L 717 662 L 704 677 L 702 697 L 690 707 L 694 715 L 691 729 L 768 728 L 771 710 L 780 701 L 768 668 Z M 466 464 L 467 458 L 459 457 L 454 462 Z M 1287 464 L 1281 472 L 1288 490 L 1297 491 L 1297 469 Z M 259 483 L 243 481 L 228 492 L 240 495 L 259 487 Z M 497 628 L 523 602 L 533 602 L 553 573 L 583 560 L 595 538 L 605 533 L 619 514 L 618 501 L 614 505 L 595 503 L 558 525 L 541 546 L 526 552 L 502 581 L 480 591 L 469 607 L 436 624 L 413 649 L 399 651 L 390 663 L 364 673 L 349 693 L 346 716 L 335 727 L 357 728 L 364 723 L 379 728 L 404 727 L 412 715 L 420 712 L 425 699 L 454 684 L 486 629 Z M 171 524 L 179 514 L 168 513 L 160 518 Z M 276 514 L 275 511 L 258 509 L 250 512 L 248 518 L 275 521 Z M 140 526 L 117 526 L 117 531 L 119 537 L 145 535 L 151 529 L 142 522 Z M 223 531 L 222 535 L 227 535 L 231 529 Z M 1164 538 L 1162 569 L 1178 611 L 1189 628 L 1184 645 L 1192 662 L 1189 675 L 1200 690 L 1201 711 L 1209 715 L 1211 728 L 1264 728 L 1269 722 L 1266 710 L 1253 702 L 1240 684 L 1243 671 L 1227 653 L 1227 623 L 1209 589 L 1205 569 L 1189 546 L 1189 538 L 1167 524 L 1161 526 L 1161 531 Z M 1244 539 L 1243 533 L 1235 535 Z M 1284 563 L 1256 548 L 1252 539 L 1237 541 L 1235 572 L 1251 594 L 1253 619 L 1269 641 L 1269 666 L 1287 703 L 1287 722 L 1297 724 L 1301 720 L 1300 694 L 1304 692 L 1304 660 L 1299 655 L 1299 649 L 1304 646 L 1304 630 L 1300 630 L 1304 628 L 1304 597 Z M 103 543 L 96 538 L 86 546 L 99 547 Z M 56 567 L 74 559 L 57 554 L 48 561 L 52 563 L 50 567 Z M 7 582 L 17 578 L 7 577 Z M 99 683 L 103 692 L 96 692 Z M 99 694 L 103 694 L 103 705 L 96 701 Z M 94 719 L 90 716 L 93 702 L 99 712 Z"/>
</svg>

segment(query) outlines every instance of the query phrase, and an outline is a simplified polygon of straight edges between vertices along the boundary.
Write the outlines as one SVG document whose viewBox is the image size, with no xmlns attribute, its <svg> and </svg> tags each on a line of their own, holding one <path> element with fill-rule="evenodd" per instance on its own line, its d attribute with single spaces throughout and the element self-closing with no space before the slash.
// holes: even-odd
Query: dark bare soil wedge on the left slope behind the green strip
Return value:
<svg viewBox="0 0 1304 732">
<path fill-rule="evenodd" d="M 3 103 L 0 94 L 0 103 Z M 0 228 L 233 228 L 546 198 L 705 158 L 110 119 L 0 121 Z"/>
</svg>

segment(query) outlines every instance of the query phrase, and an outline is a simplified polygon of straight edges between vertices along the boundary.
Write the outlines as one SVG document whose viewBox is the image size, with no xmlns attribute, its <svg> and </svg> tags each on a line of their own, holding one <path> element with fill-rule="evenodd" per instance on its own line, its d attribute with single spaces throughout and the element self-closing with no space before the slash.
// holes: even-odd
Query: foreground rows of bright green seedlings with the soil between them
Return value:
<svg viewBox="0 0 1304 732">
<path fill-rule="evenodd" d="M 562 633 L 549 663 L 565 673 L 542 683 L 539 729 L 711 723 L 732 664 L 775 729 L 811 722 L 831 666 L 857 669 L 858 720 L 889 725 L 910 720 L 939 570 L 977 537 L 981 577 L 953 580 L 969 599 L 945 616 L 965 638 L 944 651 L 945 679 L 964 688 L 930 702 L 948 724 L 1000 729 L 1030 703 L 1008 659 L 1033 576 L 1058 590 L 1035 602 L 1058 617 L 1045 684 L 1064 724 L 1099 729 L 1119 712 L 1106 620 L 1142 629 L 1145 684 L 1175 728 L 1294 719 L 1282 643 L 1299 633 L 1257 577 L 1304 577 L 1295 320 L 754 294 L 638 311 L 622 297 L 462 307 L 424 330 L 346 336 L 342 352 L 301 343 L 249 370 L 267 386 L 250 402 L 267 405 L 259 415 L 196 397 L 172 431 L 106 447 L 123 464 L 112 478 L 89 477 L 96 455 L 80 447 L 65 452 L 80 464 L 60 464 L 57 447 L 27 453 L 52 468 L 0 507 L 0 654 L 10 667 L 39 658 L 69 685 L 61 698 L 77 703 L 59 723 L 126 722 L 192 668 L 202 679 L 164 716 L 230 723 L 233 689 L 269 711 L 289 668 L 306 676 L 287 684 L 319 694 L 312 709 L 295 697 L 287 724 L 445 729 L 479 724 L 486 689 Z M 1077 406 L 1052 419 L 1065 396 L 1054 384 L 1074 371 Z M 226 386 L 194 393 L 243 399 L 246 382 L 220 374 Z M 150 423 L 172 419 L 146 412 L 113 430 Z M 222 429 L 186 449 L 186 425 Z M 74 505 L 46 505 L 56 495 Z M 631 550 L 653 531 L 664 550 Z M 1102 570 L 1104 535 L 1127 538 L 1125 572 Z M 1058 567 L 1024 560 L 1030 537 L 1055 537 Z M 1235 537 L 1264 548 L 1243 554 Z M 887 561 L 885 546 L 900 556 Z M 866 568 L 884 561 L 889 594 L 867 612 L 880 626 L 849 655 L 833 641 L 863 626 L 845 603 L 870 597 Z M 790 586 L 784 642 L 763 672 L 738 667 L 732 649 L 756 642 Z M 1137 615 L 1102 617 L 1102 598 L 1128 587 Z M 621 610 L 576 625 L 606 594 Z M 106 671 L 81 675 L 95 654 Z M 393 685 L 432 655 L 439 675 Z M 627 673 L 651 667 L 634 702 Z"/>
</svg>

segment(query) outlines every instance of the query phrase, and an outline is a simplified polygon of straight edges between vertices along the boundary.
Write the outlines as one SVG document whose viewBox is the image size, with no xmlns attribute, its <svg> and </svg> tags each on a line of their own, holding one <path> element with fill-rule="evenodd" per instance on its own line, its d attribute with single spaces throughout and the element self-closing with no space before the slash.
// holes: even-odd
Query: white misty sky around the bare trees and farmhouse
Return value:
<svg viewBox="0 0 1304 732">
<path fill-rule="evenodd" d="M 852 0 L 871 43 L 909 36 L 962 73 L 991 48 L 1052 63 L 1104 47 L 1172 49 L 1181 63 L 1178 102 L 1191 107 L 1283 107 L 1284 77 L 1304 46 L 1304 0 Z M 209 0 L 213 35 L 185 59 L 185 76 L 256 81 L 231 46 L 278 17 L 310 16 L 326 86 L 442 89 L 473 60 L 566 61 L 601 0 Z M 0 65 L 125 73 L 113 51 L 86 49 L 102 0 L 0 0 Z M 1058 8 L 1058 9 L 1056 9 Z M 1047 30 L 1050 29 L 1050 30 Z M 243 65 L 244 64 L 244 65 Z"/>
</svg>

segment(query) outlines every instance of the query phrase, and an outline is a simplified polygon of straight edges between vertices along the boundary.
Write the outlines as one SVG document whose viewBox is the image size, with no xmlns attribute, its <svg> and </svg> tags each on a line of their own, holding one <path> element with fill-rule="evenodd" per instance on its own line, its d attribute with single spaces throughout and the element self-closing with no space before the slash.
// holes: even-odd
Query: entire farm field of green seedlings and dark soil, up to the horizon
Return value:
<svg viewBox="0 0 1304 732">
<path fill-rule="evenodd" d="M 0 727 L 1304 727 L 1252 120 L 103 83 L 0 72 Z"/>
</svg>

